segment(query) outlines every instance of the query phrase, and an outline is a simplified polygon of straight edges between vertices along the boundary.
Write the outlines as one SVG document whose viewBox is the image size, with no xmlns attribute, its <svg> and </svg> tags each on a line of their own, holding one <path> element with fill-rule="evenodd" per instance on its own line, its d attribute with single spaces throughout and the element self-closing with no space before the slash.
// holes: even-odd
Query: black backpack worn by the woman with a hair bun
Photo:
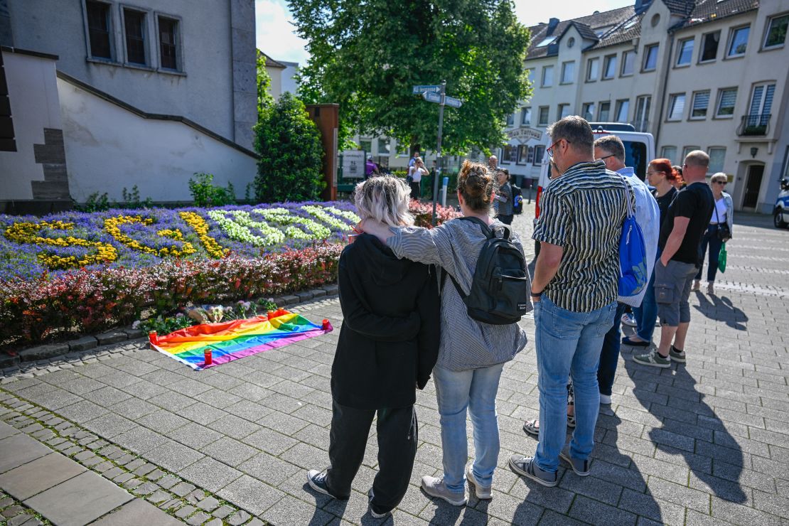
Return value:
<svg viewBox="0 0 789 526">
<path fill-rule="evenodd" d="M 459 219 L 477 223 L 488 237 L 477 258 L 469 293 L 463 293 L 458 282 L 450 276 L 454 288 L 458 289 L 458 294 L 466 304 L 469 316 L 491 325 L 517 323 L 529 306 L 531 292 L 523 252 L 510 241 L 510 229 L 507 226 L 503 226 L 504 237 L 495 237 L 493 230 L 481 219 Z"/>
</svg>

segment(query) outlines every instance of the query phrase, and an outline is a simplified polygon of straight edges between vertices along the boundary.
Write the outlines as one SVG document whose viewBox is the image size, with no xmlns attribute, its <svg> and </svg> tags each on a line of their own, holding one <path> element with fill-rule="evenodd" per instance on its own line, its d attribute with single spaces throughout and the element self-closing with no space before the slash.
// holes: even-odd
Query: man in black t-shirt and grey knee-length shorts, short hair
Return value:
<svg viewBox="0 0 789 526">
<path fill-rule="evenodd" d="M 701 235 L 709 225 L 715 200 L 706 184 L 709 155 L 691 151 L 682 165 L 687 187 L 668 205 L 660 226 L 655 263 L 655 297 L 660 316 L 660 347 L 633 356 L 638 364 L 669 367 L 671 360 L 685 361 L 685 337 L 690 326 L 690 285 L 699 261 Z"/>
</svg>

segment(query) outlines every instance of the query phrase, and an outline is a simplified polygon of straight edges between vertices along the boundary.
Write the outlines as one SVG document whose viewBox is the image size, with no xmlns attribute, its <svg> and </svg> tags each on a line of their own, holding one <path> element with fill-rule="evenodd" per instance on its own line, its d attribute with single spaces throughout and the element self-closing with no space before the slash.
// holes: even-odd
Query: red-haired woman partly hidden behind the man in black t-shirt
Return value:
<svg viewBox="0 0 789 526">
<path fill-rule="evenodd" d="M 655 159 L 649 163 L 646 169 L 646 177 L 649 185 L 655 187 L 653 196 L 657 200 L 657 207 L 660 209 L 660 224 L 663 224 L 663 218 L 666 217 L 668 205 L 674 200 L 677 194 L 677 182 L 682 181 L 680 175 L 674 166 L 671 166 L 671 161 L 668 159 Z M 660 248 L 657 249 L 657 256 L 660 259 Z M 655 289 L 653 284 L 655 282 L 655 274 L 649 278 L 649 285 L 646 288 L 644 300 L 641 301 L 641 307 L 633 308 L 634 321 L 636 323 L 636 334 L 633 336 L 626 336 L 622 338 L 623 345 L 630 345 L 630 347 L 649 347 L 652 342 L 653 334 L 655 333 L 655 322 L 657 320 L 657 301 L 655 299 Z M 623 323 L 625 322 L 623 316 Z"/>
</svg>

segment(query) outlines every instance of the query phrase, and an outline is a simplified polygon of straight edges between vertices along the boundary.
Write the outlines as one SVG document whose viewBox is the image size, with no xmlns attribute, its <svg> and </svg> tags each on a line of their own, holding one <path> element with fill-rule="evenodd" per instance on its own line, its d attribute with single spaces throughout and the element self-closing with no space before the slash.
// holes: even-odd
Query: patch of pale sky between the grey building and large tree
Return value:
<svg viewBox="0 0 789 526">
<path fill-rule="evenodd" d="M 258 49 L 275 60 L 305 65 L 309 57 L 306 41 L 296 34 L 293 22 L 284 0 L 255 0 Z"/>
</svg>

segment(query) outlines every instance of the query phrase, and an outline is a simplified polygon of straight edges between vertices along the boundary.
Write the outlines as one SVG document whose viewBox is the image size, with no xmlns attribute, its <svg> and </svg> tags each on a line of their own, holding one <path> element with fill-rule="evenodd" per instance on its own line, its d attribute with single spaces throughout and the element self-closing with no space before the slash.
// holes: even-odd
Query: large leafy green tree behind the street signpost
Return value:
<svg viewBox="0 0 789 526">
<path fill-rule="evenodd" d="M 529 31 L 510 0 L 290 0 L 310 58 L 302 99 L 339 103 L 341 134 L 436 144 L 437 104 L 415 84 L 447 80 L 463 99 L 444 111 L 443 144 L 461 154 L 502 144 L 507 114 L 531 89 L 524 59 Z"/>
</svg>

